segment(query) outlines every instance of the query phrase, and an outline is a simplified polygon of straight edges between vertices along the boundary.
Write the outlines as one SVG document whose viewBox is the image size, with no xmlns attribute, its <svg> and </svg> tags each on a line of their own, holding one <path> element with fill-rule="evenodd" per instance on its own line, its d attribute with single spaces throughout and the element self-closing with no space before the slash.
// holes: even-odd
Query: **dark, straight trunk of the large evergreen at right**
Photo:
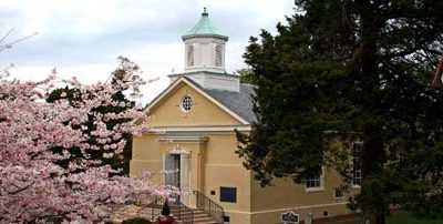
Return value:
<svg viewBox="0 0 443 224">
<path fill-rule="evenodd" d="M 362 83 L 362 92 L 360 103 L 363 110 L 372 111 L 368 121 L 361 124 L 363 132 L 363 147 L 361 152 L 362 161 L 362 185 L 361 185 L 361 205 L 362 212 L 372 215 L 372 223 L 385 223 L 385 198 L 383 186 L 383 163 L 384 163 L 384 144 L 383 129 L 381 119 L 377 110 L 381 108 L 381 102 L 377 100 L 380 90 L 379 77 L 379 55 L 377 49 L 377 40 L 379 30 L 383 22 L 380 20 L 377 9 L 374 9 L 370 0 L 360 0 L 357 3 L 360 20 L 361 52 L 359 57 L 359 74 L 358 79 Z M 373 99 L 375 96 L 375 99 Z M 371 99 L 369 99 L 371 98 Z"/>
</svg>

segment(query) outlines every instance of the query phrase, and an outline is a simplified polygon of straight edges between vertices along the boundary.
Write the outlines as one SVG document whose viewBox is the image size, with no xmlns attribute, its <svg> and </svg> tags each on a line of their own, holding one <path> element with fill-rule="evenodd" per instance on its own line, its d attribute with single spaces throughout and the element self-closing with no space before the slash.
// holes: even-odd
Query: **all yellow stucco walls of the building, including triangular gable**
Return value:
<svg viewBox="0 0 443 224">
<path fill-rule="evenodd" d="M 179 101 L 188 94 L 196 102 L 190 112 L 179 108 Z M 237 140 L 231 131 L 204 131 L 205 128 L 241 125 L 231 114 L 218 108 L 193 88 L 182 83 L 171 91 L 150 111 L 148 124 L 154 129 L 178 126 L 181 130 L 168 130 L 148 133 L 135 138 L 131 173 L 142 171 L 158 173 L 164 167 L 164 155 L 171 150 L 179 149 L 190 154 L 190 187 L 222 205 L 225 213 L 235 224 L 279 223 L 280 214 L 295 211 L 303 220 L 308 213 L 313 217 L 348 214 L 344 198 L 333 198 L 333 189 L 340 185 L 337 173 L 326 170 L 323 190 L 307 192 L 305 185 L 293 184 L 287 180 L 276 180 L 275 186 L 261 187 L 247 171 L 235 153 Z M 187 128 L 202 128 L 198 131 L 186 131 Z M 182 139 L 177 139 L 182 136 Z M 189 140 L 183 140 L 188 138 Z M 193 138 L 195 138 L 193 140 Z M 198 138 L 206 138 L 198 141 Z M 163 184 L 163 174 L 155 174 L 154 181 Z M 220 186 L 236 187 L 237 202 L 220 202 Z M 212 195 L 210 193 L 214 193 Z M 192 200 L 190 205 L 195 205 Z"/>
</svg>

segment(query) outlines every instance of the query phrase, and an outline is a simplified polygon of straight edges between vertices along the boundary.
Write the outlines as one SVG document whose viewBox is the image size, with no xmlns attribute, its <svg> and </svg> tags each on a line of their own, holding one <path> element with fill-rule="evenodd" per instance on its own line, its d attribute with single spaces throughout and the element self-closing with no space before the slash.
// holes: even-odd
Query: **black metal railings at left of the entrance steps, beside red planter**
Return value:
<svg viewBox="0 0 443 224">
<path fill-rule="evenodd" d="M 137 216 L 147 217 L 151 222 L 155 222 L 157 216 L 161 214 L 164 203 L 164 198 L 156 198 L 138 210 Z M 182 202 L 169 202 L 169 210 L 176 221 L 179 221 L 183 224 L 194 224 L 194 211 L 184 205 Z"/>
</svg>

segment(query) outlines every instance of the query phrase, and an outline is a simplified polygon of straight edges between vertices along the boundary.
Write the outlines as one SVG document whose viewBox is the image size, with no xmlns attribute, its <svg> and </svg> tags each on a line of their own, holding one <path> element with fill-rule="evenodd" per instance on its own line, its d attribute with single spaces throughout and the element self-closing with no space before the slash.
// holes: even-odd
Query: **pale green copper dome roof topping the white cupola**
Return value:
<svg viewBox="0 0 443 224">
<path fill-rule="evenodd" d="M 218 33 L 218 29 L 213 26 L 213 23 L 209 20 L 209 13 L 207 12 L 206 8 L 204 8 L 204 11 L 202 13 L 200 20 L 198 20 L 197 24 L 193 27 L 185 35 L 183 35 L 183 39 L 187 38 L 194 38 L 194 37 L 218 37 L 224 40 L 227 40 L 228 37 L 222 35 Z"/>
</svg>

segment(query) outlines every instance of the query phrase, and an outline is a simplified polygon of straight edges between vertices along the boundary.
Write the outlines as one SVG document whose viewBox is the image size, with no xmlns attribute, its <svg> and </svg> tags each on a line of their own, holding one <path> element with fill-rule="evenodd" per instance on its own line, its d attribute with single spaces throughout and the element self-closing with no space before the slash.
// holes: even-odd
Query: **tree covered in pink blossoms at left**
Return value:
<svg viewBox="0 0 443 224">
<path fill-rule="evenodd" d="M 137 73 L 128 70 L 113 84 L 62 81 L 79 91 L 81 100 L 73 105 L 63 98 L 53 103 L 44 101 L 44 94 L 60 82 L 54 75 L 40 82 L 22 82 L 8 77 L 7 71 L 0 72 L 0 223 L 99 222 L 110 216 L 110 204 L 124 203 L 138 194 L 167 194 L 150 180 L 113 175 L 116 171 L 96 165 L 101 161 L 87 155 L 91 150 L 100 150 L 104 157 L 113 156 L 123 151 L 122 134 L 148 131 L 131 122 L 106 129 L 106 121 L 112 119 L 144 119 L 141 109 L 94 112 L 97 106 L 115 104 L 115 92 L 142 84 Z M 85 134 L 87 126 L 82 124 L 90 122 L 95 130 Z M 90 144 L 90 138 L 100 146 Z M 61 150 L 54 152 L 54 147 Z M 72 147 L 84 155 L 69 160 Z M 69 165 L 58 165 L 61 160 L 69 160 Z"/>
</svg>

